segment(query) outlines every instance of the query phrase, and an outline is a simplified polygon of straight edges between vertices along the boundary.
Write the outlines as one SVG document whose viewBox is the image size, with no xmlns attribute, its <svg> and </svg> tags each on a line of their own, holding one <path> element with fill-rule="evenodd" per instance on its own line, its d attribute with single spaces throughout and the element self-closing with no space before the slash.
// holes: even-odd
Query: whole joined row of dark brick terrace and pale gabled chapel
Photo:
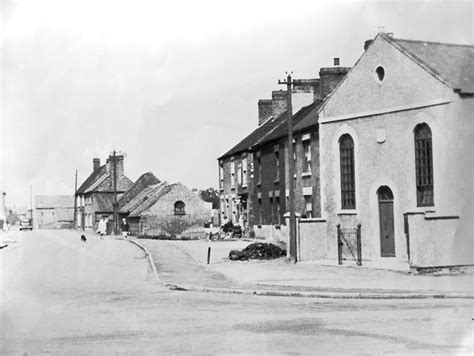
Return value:
<svg viewBox="0 0 474 356">
<path fill-rule="evenodd" d="M 286 92 L 273 92 L 218 159 L 221 215 L 285 240 L 294 179 L 298 260 L 337 259 L 338 235 L 350 259 L 360 233 L 365 261 L 474 264 L 473 63 L 473 46 L 379 33 L 352 68 L 321 68 L 293 89 L 312 94 L 293 114 L 293 177 Z"/>
</svg>

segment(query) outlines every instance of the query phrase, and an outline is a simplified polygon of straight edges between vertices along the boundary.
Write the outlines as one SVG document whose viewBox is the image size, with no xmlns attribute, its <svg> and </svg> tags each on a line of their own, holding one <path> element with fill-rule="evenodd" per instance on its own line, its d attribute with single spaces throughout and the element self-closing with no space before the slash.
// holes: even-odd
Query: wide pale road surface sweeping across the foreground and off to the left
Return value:
<svg viewBox="0 0 474 356">
<path fill-rule="evenodd" d="M 170 291 L 107 236 L 18 233 L 0 250 L 2 354 L 471 354 L 470 299 Z M 160 271 L 158 270 L 158 273 Z"/>
</svg>

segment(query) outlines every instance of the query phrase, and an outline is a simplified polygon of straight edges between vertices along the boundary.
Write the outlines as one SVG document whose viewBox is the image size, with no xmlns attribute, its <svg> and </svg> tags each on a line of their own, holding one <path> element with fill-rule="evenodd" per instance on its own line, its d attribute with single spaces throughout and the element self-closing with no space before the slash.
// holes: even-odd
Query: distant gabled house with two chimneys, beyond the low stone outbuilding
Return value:
<svg viewBox="0 0 474 356">
<path fill-rule="evenodd" d="M 100 159 L 93 159 L 93 171 L 76 192 L 77 228 L 96 231 L 101 216 L 113 214 L 114 203 L 114 166 L 116 167 L 117 201 L 128 191 L 133 182 L 125 176 L 124 156 L 117 154 L 107 158 L 106 164 L 100 165 Z"/>
</svg>

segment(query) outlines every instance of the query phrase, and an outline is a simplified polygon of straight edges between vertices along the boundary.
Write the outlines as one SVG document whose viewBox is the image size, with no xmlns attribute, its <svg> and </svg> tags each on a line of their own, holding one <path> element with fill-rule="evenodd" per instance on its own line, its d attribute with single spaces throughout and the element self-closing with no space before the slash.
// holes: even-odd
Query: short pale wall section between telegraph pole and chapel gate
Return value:
<svg viewBox="0 0 474 356">
<path fill-rule="evenodd" d="M 301 219 L 297 224 L 298 261 L 327 257 L 327 224 L 322 219 Z"/>
</svg>

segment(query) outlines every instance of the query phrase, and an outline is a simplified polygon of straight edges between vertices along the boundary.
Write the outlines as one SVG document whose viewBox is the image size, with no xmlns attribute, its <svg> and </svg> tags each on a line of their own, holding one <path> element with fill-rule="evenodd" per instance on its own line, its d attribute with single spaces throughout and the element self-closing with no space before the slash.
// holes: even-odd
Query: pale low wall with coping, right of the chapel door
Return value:
<svg viewBox="0 0 474 356">
<path fill-rule="evenodd" d="M 474 265 L 474 235 L 466 223 L 453 216 L 409 215 L 410 267 Z"/>
</svg>

